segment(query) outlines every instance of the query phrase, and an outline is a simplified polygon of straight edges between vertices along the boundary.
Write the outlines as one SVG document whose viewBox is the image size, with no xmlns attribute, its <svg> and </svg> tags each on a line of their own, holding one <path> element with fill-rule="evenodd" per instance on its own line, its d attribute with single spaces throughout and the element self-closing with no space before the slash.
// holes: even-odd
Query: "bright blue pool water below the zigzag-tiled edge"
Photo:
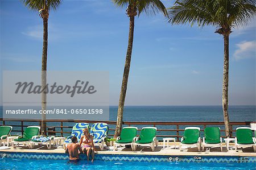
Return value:
<svg viewBox="0 0 256 170">
<path fill-rule="evenodd" d="M 170 162 L 127 162 L 127 161 L 101 161 L 94 163 L 81 160 L 71 163 L 67 160 L 37 160 L 37 159 L 11 159 L 0 160 L 0 169 L 122 169 L 122 170 L 150 170 L 150 169 L 256 169 L 255 163 L 170 163 Z"/>
</svg>

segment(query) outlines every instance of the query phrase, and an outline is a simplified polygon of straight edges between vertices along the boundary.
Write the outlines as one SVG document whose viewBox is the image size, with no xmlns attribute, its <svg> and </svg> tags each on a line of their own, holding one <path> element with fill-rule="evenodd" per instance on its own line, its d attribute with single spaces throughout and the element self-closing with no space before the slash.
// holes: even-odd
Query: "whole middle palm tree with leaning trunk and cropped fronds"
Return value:
<svg viewBox="0 0 256 170">
<path fill-rule="evenodd" d="M 147 15 L 155 15 L 158 12 L 162 12 L 167 15 L 166 7 L 160 0 L 112 0 L 118 7 L 126 7 L 126 14 L 130 18 L 130 28 L 129 28 L 129 39 L 128 48 L 126 52 L 125 59 L 125 69 L 123 71 L 122 87 L 119 97 L 118 112 L 117 112 L 117 126 L 115 128 L 115 137 L 120 135 L 123 122 L 123 107 L 125 105 L 125 95 L 127 89 L 128 76 L 130 71 L 131 63 L 131 52 L 133 50 L 133 32 L 134 32 L 134 17 L 141 13 L 146 13 Z"/>
</svg>

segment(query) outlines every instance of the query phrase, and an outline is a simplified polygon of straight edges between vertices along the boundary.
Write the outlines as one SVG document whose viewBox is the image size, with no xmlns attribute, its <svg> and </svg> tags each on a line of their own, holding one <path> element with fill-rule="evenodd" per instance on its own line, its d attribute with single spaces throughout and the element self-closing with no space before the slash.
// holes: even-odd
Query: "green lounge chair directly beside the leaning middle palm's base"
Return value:
<svg viewBox="0 0 256 170">
<path fill-rule="evenodd" d="M 117 137 L 115 141 L 114 148 L 117 150 L 118 146 L 126 146 L 130 145 L 131 150 L 133 150 L 133 143 L 135 142 L 137 135 L 138 127 L 123 127 L 121 131 L 121 135 Z"/>
</svg>

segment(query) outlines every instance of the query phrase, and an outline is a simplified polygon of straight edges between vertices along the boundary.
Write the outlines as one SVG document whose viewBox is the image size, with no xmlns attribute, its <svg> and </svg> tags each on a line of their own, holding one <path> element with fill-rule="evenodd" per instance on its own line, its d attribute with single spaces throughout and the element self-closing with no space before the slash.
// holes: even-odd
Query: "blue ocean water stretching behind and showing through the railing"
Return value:
<svg viewBox="0 0 256 170">
<path fill-rule="evenodd" d="M 115 121 L 117 118 L 118 106 L 109 107 L 109 121 Z M 2 114 L 2 108 L 1 108 Z M 1 116 L 0 114 L 0 116 Z M 230 122 L 255 122 L 256 106 L 229 106 Z M 108 121 L 108 120 L 106 120 Z M 222 122 L 222 106 L 125 106 L 123 111 L 123 121 L 139 122 Z M 2 122 L 0 121 L 2 124 Z M 19 125 L 18 122 L 6 122 L 6 125 Z M 47 126 L 60 126 L 60 123 L 49 122 Z M 73 126 L 75 123 L 65 122 L 64 126 Z M 25 122 L 24 125 L 36 125 L 35 122 Z M 37 124 L 38 125 L 38 124 Z M 137 126 L 141 128 L 142 126 Z M 224 126 L 220 126 L 224 129 Z M 110 128 L 115 128 L 110 125 Z M 158 128 L 176 128 L 175 126 L 159 126 Z M 184 128 L 180 126 L 180 128 Z M 20 127 L 14 127 L 14 130 L 20 130 Z M 60 131 L 60 128 L 56 128 Z M 64 131 L 71 132 L 71 128 L 64 128 Z M 113 131 L 111 132 L 113 134 Z M 168 132 L 158 132 L 158 134 L 167 135 Z M 172 132 L 175 134 L 175 132 Z M 12 135 L 20 134 L 13 132 Z M 170 134 L 170 132 L 169 132 Z M 56 134 L 60 135 L 60 134 Z M 65 136 L 69 134 L 64 134 Z"/>
</svg>

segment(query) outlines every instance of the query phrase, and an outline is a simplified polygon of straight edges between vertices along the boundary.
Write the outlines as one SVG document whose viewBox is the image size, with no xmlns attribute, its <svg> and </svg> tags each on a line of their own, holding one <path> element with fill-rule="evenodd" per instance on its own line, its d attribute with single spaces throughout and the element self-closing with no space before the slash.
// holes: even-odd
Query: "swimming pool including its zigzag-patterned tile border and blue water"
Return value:
<svg viewBox="0 0 256 170">
<path fill-rule="evenodd" d="M 67 154 L 0 152 L 0 169 L 256 169 L 256 157 L 156 156 L 97 154 L 94 163 L 82 155 L 78 163 Z"/>
</svg>

